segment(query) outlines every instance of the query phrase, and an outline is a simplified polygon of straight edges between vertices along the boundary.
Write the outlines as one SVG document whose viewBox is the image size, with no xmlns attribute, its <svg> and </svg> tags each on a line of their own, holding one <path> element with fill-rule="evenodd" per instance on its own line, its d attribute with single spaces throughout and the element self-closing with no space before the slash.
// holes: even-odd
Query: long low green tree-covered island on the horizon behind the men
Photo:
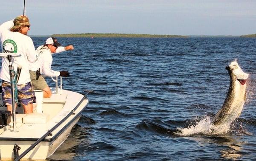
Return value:
<svg viewBox="0 0 256 161">
<path fill-rule="evenodd" d="M 51 37 L 188 37 L 181 35 L 151 35 L 151 34 L 53 34 Z"/>
</svg>

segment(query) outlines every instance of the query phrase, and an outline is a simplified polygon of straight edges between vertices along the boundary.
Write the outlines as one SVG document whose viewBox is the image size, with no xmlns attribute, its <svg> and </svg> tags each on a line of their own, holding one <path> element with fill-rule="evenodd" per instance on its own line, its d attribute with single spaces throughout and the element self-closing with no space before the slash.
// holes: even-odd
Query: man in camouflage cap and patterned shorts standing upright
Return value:
<svg viewBox="0 0 256 161">
<path fill-rule="evenodd" d="M 18 16 L 14 20 L 0 25 L 2 52 L 21 55 L 13 58 L 13 68 L 15 71 L 18 67 L 21 68 L 20 77 L 17 82 L 17 93 L 18 100 L 23 106 L 25 113 L 32 113 L 32 104 L 36 102 L 28 67 L 29 62 L 36 60 L 36 51 L 32 39 L 26 36 L 30 29 L 29 27 L 29 19 L 26 16 Z M 2 58 L 0 79 L 2 79 L 3 102 L 7 105 L 7 110 L 12 111 L 9 60 L 7 58 Z"/>
</svg>

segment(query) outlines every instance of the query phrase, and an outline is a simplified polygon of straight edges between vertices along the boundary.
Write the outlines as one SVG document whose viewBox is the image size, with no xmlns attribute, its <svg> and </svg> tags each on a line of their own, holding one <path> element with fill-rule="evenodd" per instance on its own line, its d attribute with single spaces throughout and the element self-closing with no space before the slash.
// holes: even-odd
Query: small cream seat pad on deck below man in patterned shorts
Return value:
<svg viewBox="0 0 256 161">
<path fill-rule="evenodd" d="M 49 121 L 47 113 L 29 113 L 23 117 L 23 124 L 45 124 Z"/>
</svg>

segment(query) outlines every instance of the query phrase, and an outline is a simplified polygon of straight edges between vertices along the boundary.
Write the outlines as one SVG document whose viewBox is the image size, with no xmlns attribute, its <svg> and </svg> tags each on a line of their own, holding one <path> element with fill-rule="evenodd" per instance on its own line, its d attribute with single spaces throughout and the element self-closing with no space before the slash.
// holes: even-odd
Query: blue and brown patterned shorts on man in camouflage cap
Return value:
<svg viewBox="0 0 256 161">
<path fill-rule="evenodd" d="M 3 88 L 3 103 L 5 105 L 12 105 L 12 92 L 11 92 L 11 83 L 2 80 L 2 88 Z M 35 103 L 35 91 L 31 86 L 31 82 L 17 85 L 18 91 L 18 101 L 23 105 L 28 105 L 30 103 Z"/>
</svg>

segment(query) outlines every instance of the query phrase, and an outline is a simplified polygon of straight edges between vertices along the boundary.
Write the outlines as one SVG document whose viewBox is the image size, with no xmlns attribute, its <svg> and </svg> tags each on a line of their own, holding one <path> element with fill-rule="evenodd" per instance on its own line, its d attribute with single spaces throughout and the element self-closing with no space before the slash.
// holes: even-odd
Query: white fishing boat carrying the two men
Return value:
<svg viewBox="0 0 256 161">
<path fill-rule="evenodd" d="M 15 121 L 0 128 L 1 160 L 46 159 L 69 136 L 89 103 L 86 97 L 89 91 L 83 96 L 63 90 L 60 80 L 59 86 L 56 81 L 56 87 L 51 88 L 52 96 L 42 99 L 43 102 L 39 98 L 42 97 L 42 91 L 36 92 L 38 103 L 34 105 L 33 113 L 24 114 L 23 108 L 17 107 L 15 119 L 12 119 Z M 0 107 L 0 110 L 6 110 L 6 107 Z"/>
</svg>

